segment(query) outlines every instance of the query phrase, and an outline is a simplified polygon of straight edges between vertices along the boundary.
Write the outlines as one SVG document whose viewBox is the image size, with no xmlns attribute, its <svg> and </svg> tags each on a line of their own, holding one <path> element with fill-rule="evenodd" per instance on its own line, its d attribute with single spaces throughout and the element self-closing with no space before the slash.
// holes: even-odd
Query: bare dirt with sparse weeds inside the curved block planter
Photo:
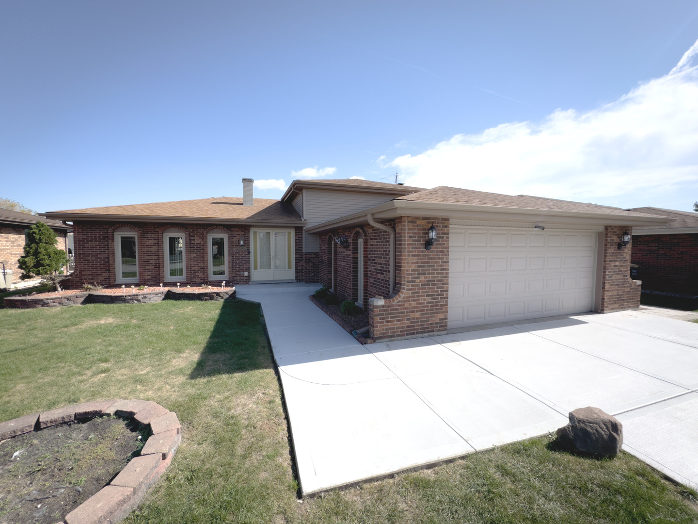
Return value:
<svg viewBox="0 0 698 524">
<path fill-rule="evenodd" d="M 0 442 L 0 521 L 62 521 L 138 456 L 145 438 L 137 422 L 101 416 Z"/>
</svg>

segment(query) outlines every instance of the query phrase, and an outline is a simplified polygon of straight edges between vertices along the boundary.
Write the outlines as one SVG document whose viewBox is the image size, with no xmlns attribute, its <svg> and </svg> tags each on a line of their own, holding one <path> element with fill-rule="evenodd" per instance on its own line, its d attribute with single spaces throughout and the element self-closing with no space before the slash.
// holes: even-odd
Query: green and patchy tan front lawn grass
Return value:
<svg viewBox="0 0 698 524">
<path fill-rule="evenodd" d="M 549 438 L 299 504 L 256 305 L 0 310 L 0 325 L 0 421 L 103 398 L 177 412 L 177 456 L 127 523 L 698 522 L 696 494 L 641 461 L 572 456 Z"/>
</svg>

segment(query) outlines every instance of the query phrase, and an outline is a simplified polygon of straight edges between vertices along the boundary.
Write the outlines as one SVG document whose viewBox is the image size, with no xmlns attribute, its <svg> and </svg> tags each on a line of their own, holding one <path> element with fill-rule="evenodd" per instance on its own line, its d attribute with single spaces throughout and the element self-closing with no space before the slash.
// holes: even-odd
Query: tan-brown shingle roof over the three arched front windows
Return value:
<svg viewBox="0 0 698 524">
<path fill-rule="evenodd" d="M 90 215 L 114 215 L 114 219 L 129 216 L 280 222 L 302 220 L 291 205 L 286 205 L 281 201 L 272 198 L 255 198 L 254 205 L 242 205 L 242 198 L 232 196 L 149 204 L 110 205 L 104 208 L 51 211 L 50 213 L 70 214 L 76 219 L 80 219 L 81 215 L 84 215 L 86 219 L 89 219 Z"/>
</svg>

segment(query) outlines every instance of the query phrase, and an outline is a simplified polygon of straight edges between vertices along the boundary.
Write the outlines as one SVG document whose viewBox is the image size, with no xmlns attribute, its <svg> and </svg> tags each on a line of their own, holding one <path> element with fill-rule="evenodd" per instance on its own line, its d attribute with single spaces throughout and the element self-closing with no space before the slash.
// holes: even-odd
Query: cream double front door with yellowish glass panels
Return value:
<svg viewBox="0 0 698 524">
<path fill-rule="evenodd" d="M 255 228 L 250 233 L 252 281 L 295 280 L 293 230 Z"/>
</svg>

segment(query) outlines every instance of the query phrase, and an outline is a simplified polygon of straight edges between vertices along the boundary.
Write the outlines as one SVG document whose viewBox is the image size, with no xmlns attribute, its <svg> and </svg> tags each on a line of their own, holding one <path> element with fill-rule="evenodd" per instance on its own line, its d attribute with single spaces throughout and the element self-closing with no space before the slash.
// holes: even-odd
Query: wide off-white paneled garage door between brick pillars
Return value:
<svg viewBox="0 0 698 524">
<path fill-rule="evenodd" d="M 593 231 L 450 232 L 449 328 L 591 311 Z"/>
</svg>

